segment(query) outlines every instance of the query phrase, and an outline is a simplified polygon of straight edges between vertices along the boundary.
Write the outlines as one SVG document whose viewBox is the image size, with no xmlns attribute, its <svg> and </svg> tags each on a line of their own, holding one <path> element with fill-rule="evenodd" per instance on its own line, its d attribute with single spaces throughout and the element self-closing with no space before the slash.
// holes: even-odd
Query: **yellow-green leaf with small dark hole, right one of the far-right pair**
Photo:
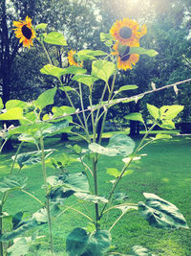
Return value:
<svg viewBox="0 0 191 256">
<path fill-rule="evenodd" d="M 161 119 L 174 119 L 183 110 L 183 105 L 163 105 L 159 108 Z"/>
</svg>

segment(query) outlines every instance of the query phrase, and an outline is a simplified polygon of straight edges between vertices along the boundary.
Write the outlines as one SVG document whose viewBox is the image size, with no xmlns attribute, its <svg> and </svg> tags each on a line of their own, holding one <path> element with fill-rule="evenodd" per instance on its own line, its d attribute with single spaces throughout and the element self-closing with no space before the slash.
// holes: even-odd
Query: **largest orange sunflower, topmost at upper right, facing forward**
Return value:
<svg viewBox="0 0 191 256">
<path fill-rule="evenodd" d="M 122 45 L 132 46 L 138 39 L 147 33 L 146 25 L 139 27 L 138 22 L 123 18 L 117 20 L 110 30 L 111 35 Z"/>
</svg>

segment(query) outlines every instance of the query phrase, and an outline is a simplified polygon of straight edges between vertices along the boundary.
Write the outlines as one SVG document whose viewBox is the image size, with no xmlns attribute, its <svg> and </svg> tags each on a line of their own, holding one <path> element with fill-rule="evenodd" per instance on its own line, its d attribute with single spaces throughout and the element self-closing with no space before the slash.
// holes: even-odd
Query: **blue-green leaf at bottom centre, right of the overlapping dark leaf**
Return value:
<svg viewBox="0 0 191 256">
<path fill-rule="evenodd" d="M 111 245 L 111 235 L 107 230 L 99 230 L 93 232 L 89 236 L 89 241 L 87 244 L 86 251 L 81 256 L 91 255 L 91 256 L 102 256 L 108 251 Z"/>
</svg>

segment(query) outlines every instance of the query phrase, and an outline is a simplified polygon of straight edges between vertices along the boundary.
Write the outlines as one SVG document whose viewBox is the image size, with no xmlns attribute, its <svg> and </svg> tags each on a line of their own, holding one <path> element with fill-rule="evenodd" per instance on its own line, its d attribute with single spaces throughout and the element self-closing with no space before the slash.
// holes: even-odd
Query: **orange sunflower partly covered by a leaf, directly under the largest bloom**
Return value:
<svg viewBox="0 0 191 256">
<path fill-rule="evenodd" d="M 138 46 L 139 44 L 135 44 L 134 46 Z M 132 65 L 136 65 L 139 59 L 138 54 L 129 54 L 130 52 L 130 46 L 125 45 L 122 46 L 122 50 L 120 50 L 121 45 L 117 42 L 114 45 L 115 52 L 112 52 L 113 55 L 117 56 L 117 68 L 118 69 L 132 69 Z"/>
</svg>

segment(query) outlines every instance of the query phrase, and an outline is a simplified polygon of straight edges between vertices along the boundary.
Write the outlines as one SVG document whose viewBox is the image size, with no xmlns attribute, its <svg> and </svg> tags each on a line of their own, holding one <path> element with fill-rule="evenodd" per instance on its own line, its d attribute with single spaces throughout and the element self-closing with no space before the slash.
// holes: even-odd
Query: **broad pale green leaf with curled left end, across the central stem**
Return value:
<svg viewBox="0 0 191 256">
<path fill-rule="evenodd" d="M 132 153 L 134 148 L 135 142 L 124 134 L 116 134 L 112 136 L 107 147 L 102 147 L 96 143 L 89 145 L 91 151 L 109 156 L 126 156 Z"/>
</svg>

